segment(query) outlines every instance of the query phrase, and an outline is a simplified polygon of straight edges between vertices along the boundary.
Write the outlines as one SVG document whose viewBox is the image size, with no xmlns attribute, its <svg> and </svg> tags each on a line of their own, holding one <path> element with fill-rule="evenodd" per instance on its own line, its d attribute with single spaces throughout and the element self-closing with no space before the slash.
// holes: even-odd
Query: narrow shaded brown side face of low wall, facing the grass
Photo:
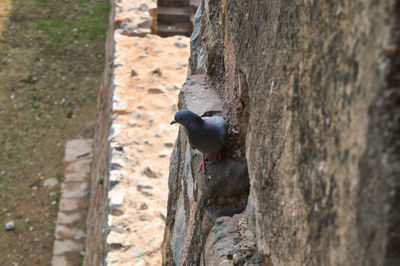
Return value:
<svg viewBox="0 0 400 266">
<path fill-rule="evenodd" d="M 107 223 L 107 183 L 112 98 L 112 70 L 115 50 L 115 4 L 111 1 L 110 24 L 107 32 L 106 62 L 103 82 L 99 90 L 97 123 L 93 143 L 93 163 L 90 181 L 89 211 L 87 217 L 85 257 L 83 265 L 102 265 L 105 253 Z"/>
</svg>

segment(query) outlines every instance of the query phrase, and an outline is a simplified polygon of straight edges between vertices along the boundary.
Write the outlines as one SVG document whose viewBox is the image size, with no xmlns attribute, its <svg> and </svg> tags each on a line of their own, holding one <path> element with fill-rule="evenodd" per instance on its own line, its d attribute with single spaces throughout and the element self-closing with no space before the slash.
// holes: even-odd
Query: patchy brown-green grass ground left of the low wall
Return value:
<svg viewBox="0 0 400 266">
<path fill-rule="evenodd" d="M 108 13 L 108 0 L 0 0 L 0 226 L 16 224 L 0 228 L 0 265 L 51 260 L 60 192 L 40 177 L 61 180 L 65 142 L 93 135 Z"/>
</svg>

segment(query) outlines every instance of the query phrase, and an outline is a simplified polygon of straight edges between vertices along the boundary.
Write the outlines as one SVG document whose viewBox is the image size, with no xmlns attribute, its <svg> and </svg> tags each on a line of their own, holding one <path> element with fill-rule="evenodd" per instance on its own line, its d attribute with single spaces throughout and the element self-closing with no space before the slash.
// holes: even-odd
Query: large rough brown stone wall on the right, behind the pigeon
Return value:
<svg viewBox="0 0 400 266">
<path fill-rule="evenodd" d="M 166 265 L 400 264 L 399 20 L 396 1 L 202 1 L 180 107 L 228 120 L 219 167 L 247 162 L 250 188 L 207 193 L 220 174 L 181 132 Z"/>
</svg>

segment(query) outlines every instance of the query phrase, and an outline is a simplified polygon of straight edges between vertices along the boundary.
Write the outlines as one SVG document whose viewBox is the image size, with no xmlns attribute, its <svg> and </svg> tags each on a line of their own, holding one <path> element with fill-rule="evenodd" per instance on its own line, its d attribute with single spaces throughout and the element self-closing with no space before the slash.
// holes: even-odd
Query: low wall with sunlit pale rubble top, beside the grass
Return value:
<svg viewBox="0 0 400 266">
<path fill-rule="evenodd" d="M 188 45 L 182 37 L 153 35 L 157 32 L 155 0 L 113 0 L 111 7 L 83 265 L 157 265 L 162 240 L 158 233 L 165 219 L 163 209 L 157 211 L 158 205 L 164 207 L 159 191 L 165 195 L 166 180 L 161 177 L 166 176 L 172 149 L 168 141 L 172 133 L 165 129 L 169 125 L 162 123 L 176 108 L 171 108 L 171 99 L 176 98 L 175 84 L 185 74 L 187 63 L 180 60 L 187 57 L 183 48 Z M 174 51 L 179 60 L 170 58 Z M 160 61 L 171 65 L 160 68 L 165 67 Z M 144 110 L 146 101 L 156 102 L 157 110 Z M 160 146 L 163 150 L 154 154 Z M 147 229 L 136 233 L 137 228 Z"/>
</svg>

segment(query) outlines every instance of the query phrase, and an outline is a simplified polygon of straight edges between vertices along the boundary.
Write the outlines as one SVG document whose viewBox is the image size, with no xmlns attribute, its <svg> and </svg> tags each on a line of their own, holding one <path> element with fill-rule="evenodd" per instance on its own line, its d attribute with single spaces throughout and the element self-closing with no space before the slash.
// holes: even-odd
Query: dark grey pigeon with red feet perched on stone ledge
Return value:
<svg viewBox="0 0 400 266">
<path fill-rule="evenodd" d="M 226 121 L 220 116 L 200 117 L 188 109 L 183 109 L 175 114 L 172 124 L 181 124 L 185 127 L 189 137 L 190 146 L 203 153 L 200 169 L 206 173 L 206 165 L 211 164 L 207 161 L 206 153 L 213 153 L 213 161 L 217 156 L 220 157 L 220 150 L 227 146 L 228 130 Z"/>
</svg>

